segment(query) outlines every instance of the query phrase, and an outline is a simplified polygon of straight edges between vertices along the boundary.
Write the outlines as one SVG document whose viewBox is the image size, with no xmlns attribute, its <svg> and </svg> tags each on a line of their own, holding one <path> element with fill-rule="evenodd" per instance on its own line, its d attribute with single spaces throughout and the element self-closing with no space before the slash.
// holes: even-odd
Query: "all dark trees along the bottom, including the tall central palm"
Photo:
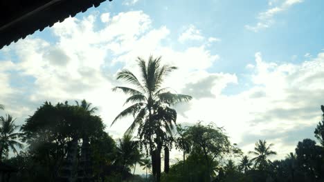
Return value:
<svg viewBox="0 0 324 182">
<path fill-rule="evenodd" d="M 260 140 L 249 159 L 213 123 L 176 124 L 172 105 L 191 97 L 162 88 L 176 68 L 161 65 L 160 59 L 138 59 L 139 78 L 128 70 L 117 75 L 134 86 L 114 88 L 129 95 L 129 107 L 113 124 L 133 118 L 122 139 L 115 141 L 105 132 L 97 109 L 85 100 L 45 102 L 20 127 L 10 115 L 1 117 L 1 164 L 17 168 L 8 181 L 324 181 L 323 106 L 323 119 L 314 130 L 318 144 L 304 139 L 286 159 L 270 161 L 276 155 L 273 144 Z M 172 165 L 171 150 L 181 152 Z M 15 155 L 9 158 L 11 151 Z M 141 176 L 135 174 L 138 168 Z"/>
</svg>

